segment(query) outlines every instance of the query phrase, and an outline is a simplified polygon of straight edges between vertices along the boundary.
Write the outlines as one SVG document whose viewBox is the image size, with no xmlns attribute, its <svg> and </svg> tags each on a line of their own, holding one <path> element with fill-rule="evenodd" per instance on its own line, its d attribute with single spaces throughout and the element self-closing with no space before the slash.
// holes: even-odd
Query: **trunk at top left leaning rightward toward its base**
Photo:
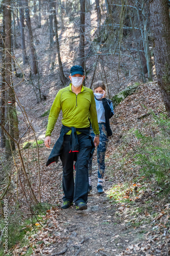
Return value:
<svg viewBox="0 0 170 256">
<path fill-rule="evenodd" d="M 23 3 L 23 2 L 22 2 Z M 33 41 L 33 32 L 31 28 L 31 19 L 30 19 L 30 10 L 28 5 L 28 0 L 25 0 L 25 12 L 26 12 L 26 23 L 29 31 L 29 41 L 30 41 L 30 58 L 31 58 L 31 68 L 32 72 L 36 75 L 37 74 L 37 58 L 36 58 L 36 51 L 34 47 L 34 41 Z"/>
</svg>

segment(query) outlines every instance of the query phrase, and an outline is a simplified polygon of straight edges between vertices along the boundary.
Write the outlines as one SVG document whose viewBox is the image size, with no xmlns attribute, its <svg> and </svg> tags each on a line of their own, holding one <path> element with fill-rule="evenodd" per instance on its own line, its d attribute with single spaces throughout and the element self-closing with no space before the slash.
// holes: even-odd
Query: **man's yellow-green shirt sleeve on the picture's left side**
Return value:
<svg viewBox="0 0 170 256">
<path fill-rule="evenodd" d="M 56 95 L 56 98 L 50 110 L 50 114 L 48 116 L 48 125 L 46 129 L 45 137 L 51 136 L 60 111 L 61 111 L 61 93 L 59 91 Z"/>
</svg>

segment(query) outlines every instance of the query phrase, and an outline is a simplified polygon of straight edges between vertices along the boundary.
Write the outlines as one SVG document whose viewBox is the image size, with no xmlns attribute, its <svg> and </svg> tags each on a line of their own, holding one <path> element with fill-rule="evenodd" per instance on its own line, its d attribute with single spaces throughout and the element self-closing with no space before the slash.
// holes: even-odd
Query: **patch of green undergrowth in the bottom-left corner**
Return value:
<svg viewBox="0 0 170 256">
<path fill-rule="evenodd" d="M 20 243 L 20 247 L 28 244 L 28 237 L 34 236 L 35 233 L 45 224 L 43 217 L 46 215 L 46 210 L 50 209 L 52 206 L 47 203 L 38 204 L 33 207 L 32 211 L 34 215 L 28 215 L 26 218 L 25 212 L 16 215 L 8 216 L 8 253 L 6 255 L 11 255 L 12 247 L 17 243 Z M 19 212 L 19 209 L 16 210 Z M 0 228 L 3 230 L 5 227 L 4 219 L 0 220 Z M 0 247 L 0 256 L 5 255 L 4 253 L 4 242 L 5 237 L 2 235 L 2 242 Z M 27 255 L 32 255 L 33 251 L 28 248 Z"/>
</svg>

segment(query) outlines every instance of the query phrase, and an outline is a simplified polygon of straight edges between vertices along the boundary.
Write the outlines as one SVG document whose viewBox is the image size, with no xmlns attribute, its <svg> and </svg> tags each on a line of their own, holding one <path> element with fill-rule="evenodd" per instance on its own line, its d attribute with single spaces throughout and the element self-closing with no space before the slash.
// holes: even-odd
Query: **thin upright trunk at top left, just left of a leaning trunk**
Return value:
<svg viewBox="0 0 170 256">
<path fill-rule="evenodd" d="M 22 2 L 19 2 L 19 26 L 20 26 L 20 37 L 21 37 L 21 48 L 22 48 L 22 60 L 25 65 L 28 62 L 27 52 L 26 52 L 26 42 L 25 42 L 25 34 L 24 34 L 24 10 L 22 6 Z"/>
</svg>

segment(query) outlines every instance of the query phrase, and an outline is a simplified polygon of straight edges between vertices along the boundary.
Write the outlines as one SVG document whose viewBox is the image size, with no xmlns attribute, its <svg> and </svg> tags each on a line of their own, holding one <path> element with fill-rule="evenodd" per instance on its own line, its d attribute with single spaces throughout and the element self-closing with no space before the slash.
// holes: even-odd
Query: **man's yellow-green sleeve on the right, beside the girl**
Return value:
<svg viewBox="0 0 170 256">
<path fill-rule="evenodd" d="M 94 134 L 100 134 L 99 132 L 99 124 L 98 124 L 98 116 L 96 112 L 95 99 L 93 92 L 91 91 L 91 105 L 90 105 L 90 122 L 93 129 Z"/>
</svg>

